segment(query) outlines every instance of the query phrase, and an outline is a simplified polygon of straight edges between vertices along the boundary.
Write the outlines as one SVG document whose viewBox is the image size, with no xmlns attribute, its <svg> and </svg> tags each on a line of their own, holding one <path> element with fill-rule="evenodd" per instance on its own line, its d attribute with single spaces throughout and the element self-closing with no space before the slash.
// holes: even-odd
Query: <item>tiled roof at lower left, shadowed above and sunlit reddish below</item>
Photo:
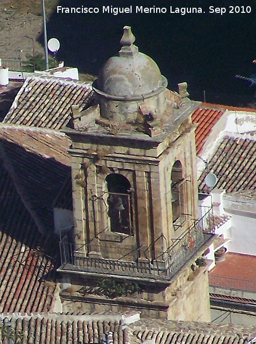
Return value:
<svg viewBox="0 0 256 344">
<path fill-rule="evenodd" d="M 39 233 L 2 159 L 0 198 L 0 311 L 51 310 L 55 283 L 42 278 L 53 268 L 48 253 L 56 252 L 56 242 Z"/>
</svg>

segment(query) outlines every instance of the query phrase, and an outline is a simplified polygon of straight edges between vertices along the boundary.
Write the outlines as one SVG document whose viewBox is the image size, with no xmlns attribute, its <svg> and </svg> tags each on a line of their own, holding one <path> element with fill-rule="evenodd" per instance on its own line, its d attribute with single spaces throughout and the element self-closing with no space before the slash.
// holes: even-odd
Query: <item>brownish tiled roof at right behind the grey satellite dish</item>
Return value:
<svg viewBox="0 0 256 344">
<path fill-rule="evenodd" d="M 256 142 L 251 139 L 226 137 L 199 179 L 199 189 L 206 192 L 204 179 L 208 173 L 217 178 L 216 188 L 227 193 L 256 189 Z"/>
</svg>

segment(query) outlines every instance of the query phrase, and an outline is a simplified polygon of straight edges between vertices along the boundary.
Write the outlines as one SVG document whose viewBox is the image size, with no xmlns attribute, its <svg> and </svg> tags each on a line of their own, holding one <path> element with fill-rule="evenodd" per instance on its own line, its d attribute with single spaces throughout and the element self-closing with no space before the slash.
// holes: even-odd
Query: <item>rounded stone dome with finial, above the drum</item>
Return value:
<svg viewBox="0 0 256 344">
<path fill-rule="evenodd" d="M 167 86 L 167 80 L 154 60 L 140 53 L 135 37 L 124 27 L 119 56 L 111 57 L 101 68 L 95 88 L 106 97 L 135 100 L 151 97 Z"/>
</svg>

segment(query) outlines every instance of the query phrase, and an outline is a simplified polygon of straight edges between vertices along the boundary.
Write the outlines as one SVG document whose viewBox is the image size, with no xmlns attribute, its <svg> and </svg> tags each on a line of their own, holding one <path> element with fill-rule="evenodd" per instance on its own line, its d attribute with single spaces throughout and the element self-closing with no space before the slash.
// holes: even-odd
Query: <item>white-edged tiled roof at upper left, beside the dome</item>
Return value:
<svg viewBox="0 0 256 344">
<path fill-rule="evenodd" d="M 89 85 L 33 76 L 26 79 L 3 122 L 58 130 L 70 122 L 71 105 L 85 109 L 93 98 Z"/>
</svg>

